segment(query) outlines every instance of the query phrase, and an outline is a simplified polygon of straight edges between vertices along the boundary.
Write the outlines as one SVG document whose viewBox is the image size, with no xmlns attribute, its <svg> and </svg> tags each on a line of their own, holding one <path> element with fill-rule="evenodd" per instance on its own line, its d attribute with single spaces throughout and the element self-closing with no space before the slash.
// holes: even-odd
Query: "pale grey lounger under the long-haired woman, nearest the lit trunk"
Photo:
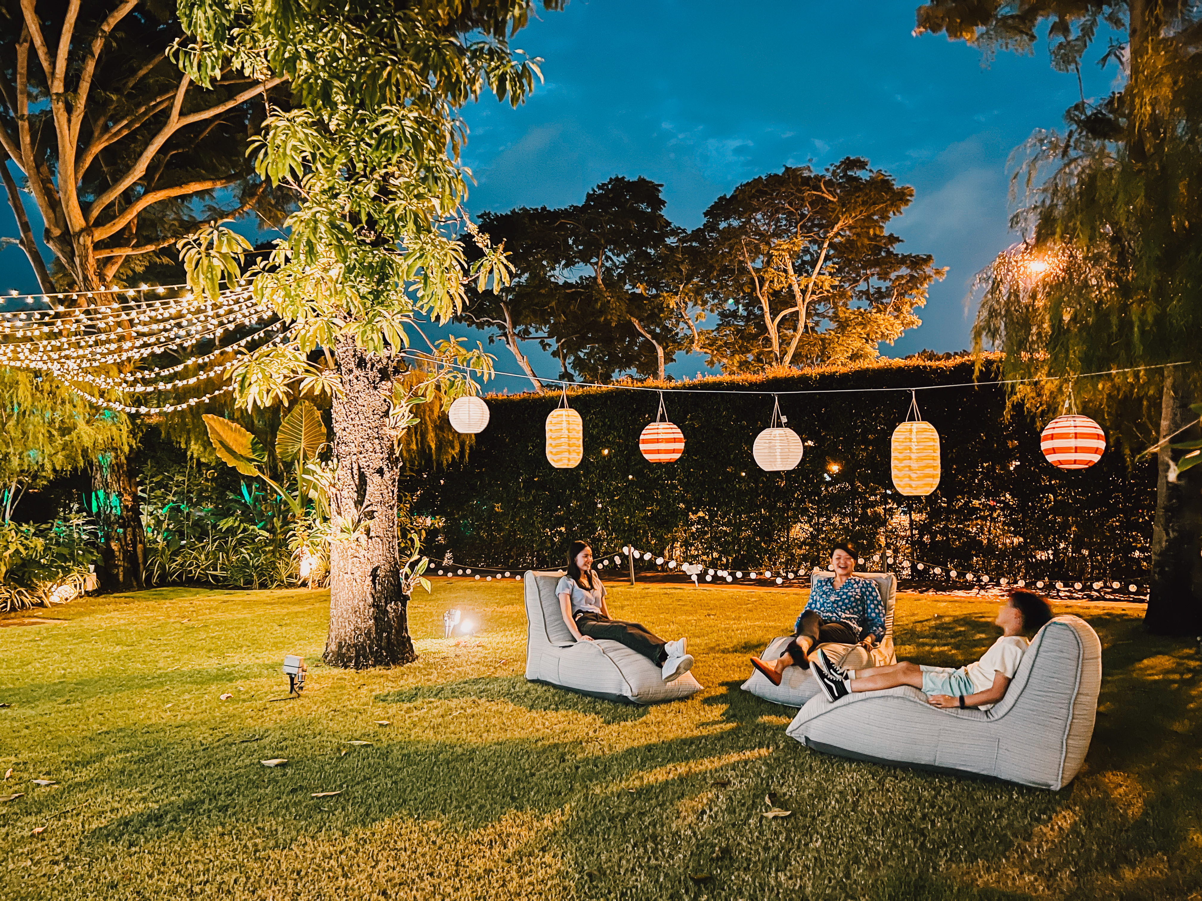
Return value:
<svg viewBox="0 0 1202 901">
<path fill-rule="evenodd" d="M 555 596 L 555 585 L 563 574 L 528 572 L 523 577 L 526 679 L 635 704 L 677 700 L 701 691 L 692 673 L 665 682 L 659 667 L 617 642 L 577 642 L 564 622 Z"/>
</svg>

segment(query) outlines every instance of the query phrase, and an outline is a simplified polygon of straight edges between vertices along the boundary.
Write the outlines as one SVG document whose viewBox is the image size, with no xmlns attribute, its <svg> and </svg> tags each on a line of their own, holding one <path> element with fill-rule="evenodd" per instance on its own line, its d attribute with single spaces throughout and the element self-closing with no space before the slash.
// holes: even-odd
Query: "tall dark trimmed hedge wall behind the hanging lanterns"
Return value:
<svg viewBox="0 0 1202 901">
<path fill-rule="evenodd" d="M 468 459 L 411 476 L 413 512 L 441 518 L 428 553 L 463 565 L 561 566 L 581 537 L 597 555 L 624 544 L 726 569 L 798 569 L 850 539 L 930 566 L 1027 579 L 1146 583 L 1155 467 L 1131 470 L 1108 447 L 1088 470 L 1061 471 L 1040 452 L 1040 428 L 1022 411 L 1007 420 L 998 386 L 918 392 L 923 419 L 941 437 L 942 479 L 928 497 L 893 491 L 889 437 L 909 392 L 849 389 L 952 386 L 972 381 L 971 362 L 888 362 L 847 371 L 724 377 L 674 383 L 724 394 L 665 390 L 684 455 L 651 464 L 638 435 L 655 419 L 654 392 L 570 390 L 584 419 L 584 459 L 555 470 L 545 422 L 559 394 L 490 395 L 492 419 Z M 770 394 L 805 442 L 797 469 L 763 472 L 751 443 L 769 425 Z M 1082 411 L 1088 413 L 1089 411 Z M 911 527 L 914 543 L 911 547 Z"/>
</svg>

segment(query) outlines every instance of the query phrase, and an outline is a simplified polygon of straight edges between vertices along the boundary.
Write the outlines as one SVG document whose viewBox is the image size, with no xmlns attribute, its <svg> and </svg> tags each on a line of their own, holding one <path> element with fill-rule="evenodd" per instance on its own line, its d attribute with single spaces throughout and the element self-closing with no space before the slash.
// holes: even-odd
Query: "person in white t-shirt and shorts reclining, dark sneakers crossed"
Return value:
<svg viewBox="0 0 1202 901">
<path fill-rule="evenodd" d="M 1001 638 L 984 652 L 984 656 L 965 667 L 928 667 L 902 661 L 888 667 L 867 669 L 843 669 L 819 651 L 817 666 L 811 667 L 822 691 L 831 700 L 838 700 L 850 692 L 875 692 L 912 685 L 927 696 L 927 703 L 936 708 L 978 708 L 988 710 L 1006 693 L 1010 680 L 1023 662 L 1028 642 L 1023 636 L 1034 636 L 1052 619 L 1048 602 L 1034 591 L 1016 589 L 1010 601 L 998 610 L 993 622 L 1001 626 Z"/>
</svg>

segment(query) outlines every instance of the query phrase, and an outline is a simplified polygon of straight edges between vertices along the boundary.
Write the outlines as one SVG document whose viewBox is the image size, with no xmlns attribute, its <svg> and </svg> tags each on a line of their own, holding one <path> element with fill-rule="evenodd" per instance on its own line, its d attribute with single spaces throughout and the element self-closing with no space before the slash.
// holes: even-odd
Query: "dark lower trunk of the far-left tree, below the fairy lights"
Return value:
<svg viewBox="0 0 1202 901">
<path fill-rule="evenodd" d="M 147 535 L 132 454 L 105 454 L 93 470 L 101 527 L 105 586 L 114 591 L 145 587 Z"/>
</svg>

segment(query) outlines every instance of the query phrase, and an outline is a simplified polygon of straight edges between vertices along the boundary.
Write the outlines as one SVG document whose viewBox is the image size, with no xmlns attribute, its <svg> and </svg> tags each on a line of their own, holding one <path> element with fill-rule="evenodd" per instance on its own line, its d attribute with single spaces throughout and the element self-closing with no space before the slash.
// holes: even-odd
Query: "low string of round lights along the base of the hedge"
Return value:
<svg viewBox="0 0 1202 901">
<path fill-rule="evenodd" d="M 623 560 L 626 557 L 626 560 Z M 721 583 L 734 583 L 743 581 L 744 578 L 756 585 L 780 586 L 780 587 L 797 587 L 797 583 L 804 580 L 804 584 L 809 584 L 810 573 L 813 568 L 810 567 L 798 567 L 798 568 L 784 568 L 784 569 L 722 569 L 718 567 L 702 566 L 700 563 L 686 563 L 672 560 L 670 557 L 656 556 L 651 551 L 641 551 L 637 548 L 631 548 L 625 545 L 620 551 L 611 551 L 600 557 L 595 557 L 594 567 L 602 573 L 611 566 L 629 566 L 633 559 L 635 562 L 642 562 L 649 565 L 653 560 L 655 566 L 661 571 L 667 571 L 672 573 L 679 571 L 685 577 L 688 577 L 694 585 L 700 586 L 702 580 L 707 583 L 718 581 Z M 1118 581 L 1114 579 L 1101 580 L 1095 579 L 1093 581 L 1085 583 L 1079 579 L 1077 580 L 1058 580 L 1058 579 L 1010 579 L 1006 577 L 993 578 L 984 573 L 965 572 L 963 569 L 948 568 L 946 566 L 933 566 L 926 561 L 912 560 L 910 557 L 894 556 L 893 551 L 886 550 L 877 554 L 871 554 L 869 557 L 859 557 L 857 563 L 859 566 L 868 565 L 881 565 L 885 563 L 891 571 L 897 572 L 899 568 L 908 571 L 908 577 L 916 580 L 923 581 L 947 581 L 948 585 L 954 585 L 957 583 L 968 583 L 977 591 L 999 587 L 999 589 L 1034 589 L 1036 591 L 1082 591 L 1091 589 L 1095 592 L 1115 592 L 1120 595 L 1138 595 L 1141 592 L 1141 586 L 1127 583 Z M 465 566 L 463 563 L 453 563 L 451 555 L 444 559 L 444 561 L 436 565 L 435 569 L 438 575 L 444 575 L 447 578 L 465 577 L 471 578 L 475 581 L 494 581 L 501 579 L 513 579 L 516 581 L 522 581 L 522 573 L 514 572 L 519 567 L 499 567 L 499 566 Z M 555 568 L 555 567 L 552 567 Z M 560 567 L 561 568 L 561 567 Z M 877 572 L 877 571 L 868 571 Z M 615 573 L 617 574 L 617 573 Z M 625 578 L 625 573 L 621 573 Z"/>
</svg>

